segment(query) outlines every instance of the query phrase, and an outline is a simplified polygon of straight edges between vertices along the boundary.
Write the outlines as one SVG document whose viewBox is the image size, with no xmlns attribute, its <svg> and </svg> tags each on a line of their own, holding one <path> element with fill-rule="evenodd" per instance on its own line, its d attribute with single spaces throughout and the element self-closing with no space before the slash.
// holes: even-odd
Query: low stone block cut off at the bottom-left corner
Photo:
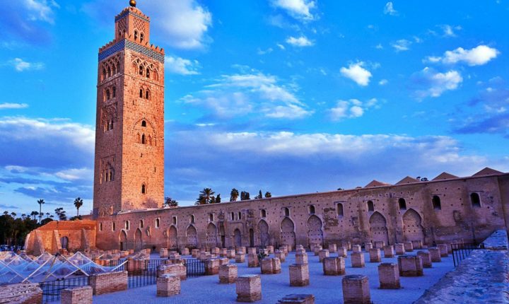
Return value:
<svg viewBox="0 0 509 304">
<path fill-rule="evenodd" d="M 42 303 L 42 289 L 38 283 L 19 283 L 0 286 L 0 303 Z"/>
</svg>

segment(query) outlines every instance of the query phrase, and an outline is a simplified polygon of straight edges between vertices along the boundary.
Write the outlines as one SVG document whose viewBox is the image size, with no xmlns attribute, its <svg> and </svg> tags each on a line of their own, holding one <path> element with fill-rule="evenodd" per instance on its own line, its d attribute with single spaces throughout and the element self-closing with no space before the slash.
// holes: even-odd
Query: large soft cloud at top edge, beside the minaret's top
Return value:
<svg viewBox="0 0 509 304">
<path fill-rule="evenodd" d="M 151 0 L 145 4 L 153 24 L 163 30 L 165 42 L 180 49 L 206 45 L 206 32 L 212 26 L 212 14 L 195 0 Z"/>
</svg>

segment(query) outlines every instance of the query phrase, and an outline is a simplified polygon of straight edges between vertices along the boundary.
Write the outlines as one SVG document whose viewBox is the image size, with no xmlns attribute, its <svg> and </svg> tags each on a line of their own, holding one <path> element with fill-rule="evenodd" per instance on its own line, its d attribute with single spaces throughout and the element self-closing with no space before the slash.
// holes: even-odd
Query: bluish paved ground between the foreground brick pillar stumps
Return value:
<svg viewBox="0 0 509 304">
<path fill-rule="evenodd" d="M 351 252 L 349 252 L 350 255 Z M 336 255 L 334 255 L 336 256 Z M 291 253 L 286 262 L 281 264 L 281 274 L 262 275 L 262 300 L 257 303 L 277 303 L 277 300 L 292 293 L 312 293 L 316 303 L 342 303 L 341 279 L 343 276 L 324 276 L 322 264 L 318 257 L 308 252 L 310 267 L 310 286 L 291 287 L 289 285 L 288 265 L 295 261 L 295 254 Z M 369 261 L 369 255 L 365 254 L 365 260 Z M 452 257 L 442 259 L 443 262 L 434 263 L 433 268 L 424 269 L 424 276 L 416 278 L 402 278 L 402 289 L 382 290 L 378 289 L 378 264 L 366 262 L 363 269 L 352 268 L 350 258 L 346 259 L 346 274 L 365 274 L 370 281 L 370 293 L 373 303 L 413 303 L 447 271 L 453 269 Z M 230 262 L 234 262 L 231 260 Z M 396 258 L 382 259 L 382 262 L 397 262 Z M 237 264 L 239 274 L 260 274 L 259 268 L 247 268 L 247 262 Z M 156 286 L 146 286 L 130 289 L 129 291 L 110 293 L 103 296 L 95 296 L 95 304 L 114 303 L 235 303 L 235 283 L 219 284 L 218 276 L 201 276 L 198 278 L 182 281 L 182 292 L 179 296 L 171 298 L 157 298 Z"/>
</svg>

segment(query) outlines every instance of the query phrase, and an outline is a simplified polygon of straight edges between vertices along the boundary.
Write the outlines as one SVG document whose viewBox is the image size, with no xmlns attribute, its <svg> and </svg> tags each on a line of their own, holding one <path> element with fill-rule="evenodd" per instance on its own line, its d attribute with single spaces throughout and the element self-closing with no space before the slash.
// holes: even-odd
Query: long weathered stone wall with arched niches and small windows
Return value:
<svg viewBox="0 0 509 304">
<path fill-rule="evenodd" d="M 508 203 L 501 193 L 507 193 L 509 186 L 498 180 L 508 176 L 452 178 L 177 209 L 126 211 L 97 219 L 98 225 L 103 226 L 103 230 L 98 229 L 98 247 L 119 249 L 119 240 L 125 238 L 127 247 L 134 248 L 138 229 L 142 232 L 138 232 L 142 247 L 156 249 L 167 244 L 174 248 L 289 244 L 295 248 L 316 242 L 324 245 L 347 241 L 384 241 L 392 245 L 419 238 L 426 245 L 481 241 L 493 230 L 505 228 L 503 205 Z M 472 206 L 472 192 L 479 194 L 481 206 Z M 440 210 L 433 209 L 433 196 L 440 197 Z M 399 209 L 399 199 L 406 201 L 406 209 Z M 368 201 L 373 201 L 373 211 L 368 211 Z M 343 215 L 338 213 L 339 204 Z M 315 214 L 310 214 L 310 206 L 315 207 Z M 155 226 L 156 219 L 160 221 L 159 228 Z M 125 221 L 131 223 L 129 230 L 122 229 Z M 140 228 L 141 221 L 144 228 Z"/>
</svg>

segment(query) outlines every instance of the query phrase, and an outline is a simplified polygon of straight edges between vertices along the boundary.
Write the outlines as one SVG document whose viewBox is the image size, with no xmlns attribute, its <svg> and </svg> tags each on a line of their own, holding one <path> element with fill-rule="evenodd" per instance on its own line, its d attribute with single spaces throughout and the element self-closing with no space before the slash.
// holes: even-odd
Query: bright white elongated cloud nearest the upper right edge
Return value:
<svg viewBox="0 0 509 304">
<path fill-rule="evenodd" d="M 442 62 L 445 64 L 455 64 L 464 62 L 469 66 L 481 66 L 487 64 L 491 59 L 495 59 L 500 52 L 493 47 L 479 45 L 473 49 L 463 49 L 458 47 L 453 51 L 445 52 Z"/>
</svg>

